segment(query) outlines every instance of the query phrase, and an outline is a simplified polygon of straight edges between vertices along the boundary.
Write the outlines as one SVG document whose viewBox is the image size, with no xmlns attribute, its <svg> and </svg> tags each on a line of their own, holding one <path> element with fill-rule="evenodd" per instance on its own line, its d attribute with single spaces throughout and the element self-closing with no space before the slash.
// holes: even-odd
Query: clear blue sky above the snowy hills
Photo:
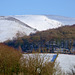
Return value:
<svg viewBox="0 0 75 75">
<path fill-rule="evenodd" d="M 0 0 L 0 16 L 7 15 L 75 17 L 75 0 Z"/>
</svg>

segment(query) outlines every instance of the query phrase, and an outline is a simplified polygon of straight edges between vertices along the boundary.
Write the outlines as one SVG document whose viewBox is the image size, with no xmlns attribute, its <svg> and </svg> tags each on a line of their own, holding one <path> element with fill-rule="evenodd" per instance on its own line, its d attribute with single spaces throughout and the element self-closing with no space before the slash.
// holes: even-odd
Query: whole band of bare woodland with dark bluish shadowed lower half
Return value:
<svg viewBox="0 0 75 75">
<path fill-rule="evenodd" d="M 36 32 L 30 34 L 30 36 L 17 36 L 17 39 L 7 40 L 5 44 L 16 49 L 21 47 L 24 52 L 48 52 L 49 48 L 51 52 L 53 52 L 55 47 L 62 47 L 70 50 L 75 46 L 75 25 L 67 25 L 56 29 Z"/>
</svg>

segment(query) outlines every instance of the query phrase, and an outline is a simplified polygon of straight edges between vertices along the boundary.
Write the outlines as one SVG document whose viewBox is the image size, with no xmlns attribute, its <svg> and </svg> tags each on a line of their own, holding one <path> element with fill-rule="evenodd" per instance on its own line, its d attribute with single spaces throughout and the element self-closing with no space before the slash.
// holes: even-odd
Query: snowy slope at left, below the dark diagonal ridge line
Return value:
<svg viewBox="0 0 75 75">
<path fill-rule="evenodd" d="M 20 36 L 23 36 L 34 33 L 36 30 L 15 18 L 0 17 L 0 42 L 16 37 L 18 32 L 21 33 Z"/>
</svg>

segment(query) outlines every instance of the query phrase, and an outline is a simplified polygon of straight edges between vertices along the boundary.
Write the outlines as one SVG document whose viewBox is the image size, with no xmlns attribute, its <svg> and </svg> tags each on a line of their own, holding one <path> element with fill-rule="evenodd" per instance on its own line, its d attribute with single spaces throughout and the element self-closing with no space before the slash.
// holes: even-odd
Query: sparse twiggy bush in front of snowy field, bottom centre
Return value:
<svg viewBox="0 0 75 75">
<path fill-rule="evenodd" d="M 61 75 L 59 65 L 49 61 L 50 57 L 40 54 L 26 54 L 21 60 L 23 75 Z M 57 69 L 59 70 L 57 73 Z"/>
</svg>

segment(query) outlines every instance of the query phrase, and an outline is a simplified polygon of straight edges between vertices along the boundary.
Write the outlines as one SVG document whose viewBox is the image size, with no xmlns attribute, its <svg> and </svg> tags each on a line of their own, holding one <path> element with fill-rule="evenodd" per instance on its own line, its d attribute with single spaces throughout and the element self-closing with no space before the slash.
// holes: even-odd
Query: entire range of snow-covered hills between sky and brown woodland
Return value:
<svg viewBox="0 0 75 75">
<path fill-rule="evenodd" d="M 38 31 L 75 24 L 75 18 L 53 15 L 0 16 L 0 42 L 16 37 L 18 32 L 29 35 Z"/>
</svg>

